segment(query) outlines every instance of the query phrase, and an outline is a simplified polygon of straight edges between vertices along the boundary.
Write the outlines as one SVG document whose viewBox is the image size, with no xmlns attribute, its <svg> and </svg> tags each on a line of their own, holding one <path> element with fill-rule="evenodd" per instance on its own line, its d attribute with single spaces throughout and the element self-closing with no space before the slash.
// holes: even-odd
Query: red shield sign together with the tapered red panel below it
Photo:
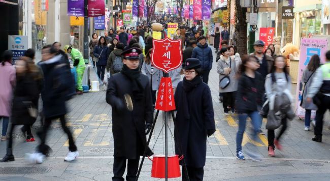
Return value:
<svg viewBox="0 0 330 181">
<path fill-rule="evenodd" d="M 151 62 L 166 73 L 182 65 L 181 40 L 153 40 Z M 161 77 L 155 108 L 162 111 L 175 110 L 172 81 L 170 77 Z"/>
</svg>

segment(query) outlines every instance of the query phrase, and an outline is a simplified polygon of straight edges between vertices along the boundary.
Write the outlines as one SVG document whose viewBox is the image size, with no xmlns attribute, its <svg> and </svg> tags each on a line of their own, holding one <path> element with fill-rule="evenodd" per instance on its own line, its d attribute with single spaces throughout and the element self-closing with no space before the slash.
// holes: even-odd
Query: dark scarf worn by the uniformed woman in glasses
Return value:
<svg viewBox="0 0 330 181">
<path fill-rule="evenodd" d="M 182 102 L 185 105 L 185 106 L 183 106 L 183 116 L 185 119 L 190 119 L 187 93 L 189 93 L 192 89 L 194 89 L 195 87 L 200 85 L 202 82 L 203 82 L 203 79 L 199 75 L 197 75 L 191 81 L 188 81 L 185 77 L 183 78 L 183 90 L 184 91 L 183 91 L 183 95 L 182 95 Z"/>
</svg>

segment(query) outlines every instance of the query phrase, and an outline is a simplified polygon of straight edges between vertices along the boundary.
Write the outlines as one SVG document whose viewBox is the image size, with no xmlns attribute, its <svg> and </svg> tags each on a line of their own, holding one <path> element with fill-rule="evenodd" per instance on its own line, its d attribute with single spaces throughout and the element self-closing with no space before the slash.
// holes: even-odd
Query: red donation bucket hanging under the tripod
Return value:
<svg viewBox="0 0 330 181">
<path fill-rule="evenodd" d="M 183 156 L 179 158 L 178 155 L 168 156 L 168 178 L 177 178 L 181 176 L 179 160 L 182 160 Z M 149 158 L 149 160 L 151 160 Z M 165 155 L 153 155 L 151 177 L 165 178 Z"/>
</svg>

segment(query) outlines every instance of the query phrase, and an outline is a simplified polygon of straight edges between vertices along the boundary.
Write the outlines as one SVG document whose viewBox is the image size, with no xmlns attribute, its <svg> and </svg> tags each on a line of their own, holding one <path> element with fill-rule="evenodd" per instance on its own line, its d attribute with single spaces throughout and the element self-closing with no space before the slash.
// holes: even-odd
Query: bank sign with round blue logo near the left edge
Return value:
<svg viewBox="0 0 330 181">
<path fill-rule="evenodd" d="M 8 50 L 13 52 L 13 65 L 27 50 L 27 36 L 8 35 Z"/>
</svg>

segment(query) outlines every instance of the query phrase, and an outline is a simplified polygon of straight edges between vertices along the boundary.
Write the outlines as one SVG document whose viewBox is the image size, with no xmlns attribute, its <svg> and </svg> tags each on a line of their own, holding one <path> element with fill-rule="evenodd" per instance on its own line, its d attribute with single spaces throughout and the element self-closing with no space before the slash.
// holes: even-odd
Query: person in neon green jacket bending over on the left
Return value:
<svg viewBox="0 0 330 181">
<path fill-rule="evenodd" d="M 83 94 L 82 78 L 85 71 L 84 57 L 78 49 L 72 48 L 70 45 L 64 46 L 65 53 L 71 54 L 71 59 L 74 62 L 73 66 L 76 67 L 77 71 L 77 82 L 76 82 L 76 93 L 78 95 Z"/>
</svg>

